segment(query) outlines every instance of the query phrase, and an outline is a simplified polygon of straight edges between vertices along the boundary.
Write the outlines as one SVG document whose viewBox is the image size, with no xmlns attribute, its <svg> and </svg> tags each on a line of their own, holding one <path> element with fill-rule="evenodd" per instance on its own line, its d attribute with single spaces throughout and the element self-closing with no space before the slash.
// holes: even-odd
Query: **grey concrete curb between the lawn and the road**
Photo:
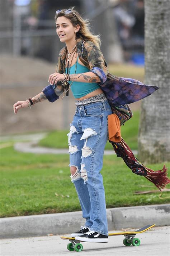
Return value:
<svg viewBox="0 0 170 256">
<path fill-rule="evenodd" d="M 170 204 L 107 209 L 108 229 L 142 228 L 148 224 L 170 225 Z M 71 234 L 83 226 L 82 212 L 30 215 L 0 219 L 0 238 Z"/>
</svg>

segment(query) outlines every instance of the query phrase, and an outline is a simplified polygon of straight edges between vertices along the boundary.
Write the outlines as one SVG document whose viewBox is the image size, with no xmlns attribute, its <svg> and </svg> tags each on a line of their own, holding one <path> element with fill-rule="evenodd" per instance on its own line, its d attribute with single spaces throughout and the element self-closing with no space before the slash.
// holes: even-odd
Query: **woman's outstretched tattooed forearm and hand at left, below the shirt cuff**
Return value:
<svg viewBox="0 0 170 256">
<path fill-rule="evenodd" d="M 42 102 L 43 100 L 46 100 L 46 95 L 41 92 L 39 94 L 37 94 L 36 96 L 34 96 L 32 98 L 33 100 L 33 104 L 36 104 L 38 102 Z M 18 109 L 20 108 L 28 108 L 29 107 L 29 102 L 28 100 L 24 100 L 24 101 L 18 101 L 16 102 L 14 105 L 13 105 L 13 108 L 14 108 L 14 113 L 16 114 L 18 112 Z"/>
</svg>

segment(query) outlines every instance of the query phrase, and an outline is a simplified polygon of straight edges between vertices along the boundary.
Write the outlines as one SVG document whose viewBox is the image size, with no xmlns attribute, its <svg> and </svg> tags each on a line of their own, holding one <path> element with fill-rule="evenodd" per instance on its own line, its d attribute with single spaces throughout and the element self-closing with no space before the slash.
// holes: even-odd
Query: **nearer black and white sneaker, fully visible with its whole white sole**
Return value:
<svg viewBox="0 0 170 256">
<path fill-rule="evenodd" d="M 107 235 L 102 235 L 91 230 L 89 232 L 86 232 L 86 234 L 84 235 L 76 236 L 75 239 L 82 242 L 97 242 L 97 243 L 108 243 L 109 241 Z"/>
</svg>

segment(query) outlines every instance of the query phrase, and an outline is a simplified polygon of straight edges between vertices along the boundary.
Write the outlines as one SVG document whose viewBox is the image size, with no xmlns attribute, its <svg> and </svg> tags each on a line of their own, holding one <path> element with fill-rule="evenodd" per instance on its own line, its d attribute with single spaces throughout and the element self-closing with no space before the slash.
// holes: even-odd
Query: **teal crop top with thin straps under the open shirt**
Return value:
<svg viewBox="0 0 170 256">
<path fill-rule="evenodd" d="M 77 58 L 76 74 L 86 73 L 89 71 L 90 71 L 90 69 L 81 65 L 78 62 L 78 58 Z M 66 72 L 67 72 L 67 68 L 66 68 Z M 74 72 L 75 72 L 75 64 L 73 66 L 71 66 L 70 74 L 74 74 Z M 69 84 L 71 84 L 71 82 L 72 81 L 69 81 Z M 75 98 L 81 98 L 81 97 L 85 96 L 86 94 L 91 93 L 92 91 L 94 91 L 98 88 L 100 88 L 98 83 L 86 83 L 86 82 L 76 82 L 76 81 L 73 81 L 73 83 L 70 87 L 72 94 Z"/>
</svg>

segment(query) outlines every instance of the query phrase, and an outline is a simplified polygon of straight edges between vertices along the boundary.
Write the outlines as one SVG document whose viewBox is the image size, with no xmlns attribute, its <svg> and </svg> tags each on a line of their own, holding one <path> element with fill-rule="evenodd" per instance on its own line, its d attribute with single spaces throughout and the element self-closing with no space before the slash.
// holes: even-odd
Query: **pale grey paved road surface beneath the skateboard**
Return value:
<svg viewBox="0 0 170 256">
<path fill-rule="evenodd" d="M 81 252 L 69 252 L 67 241 L 61 240 L 59 235 L 33 238 L 1 239 L 1 256 L 164 256 L 170 253 L 170 226 L 156 227 L 143 234 L 136 235 L 141 240 L 138 247 L 124 246 L 123 236 L 109 237 L 108 243 L 82 243 Z M 115 232 L 114 230 L 112 232 Z M 117 231 L 118 232 L 118 231 Z"/>
</svg>

